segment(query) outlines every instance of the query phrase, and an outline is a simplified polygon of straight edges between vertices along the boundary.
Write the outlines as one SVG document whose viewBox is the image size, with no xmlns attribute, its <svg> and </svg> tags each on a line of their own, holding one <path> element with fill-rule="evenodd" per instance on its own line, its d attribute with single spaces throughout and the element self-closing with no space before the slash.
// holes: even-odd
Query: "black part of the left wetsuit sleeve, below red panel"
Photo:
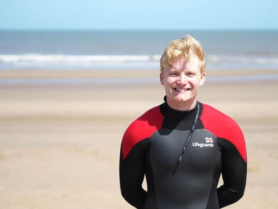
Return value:
<svg viewBox="0 0 278 209">
<path fill-rule="evenodd" d="M 120 154 L 120 186 L 122 196 L 137 209 L 143 209 L 147 192 L 142 188 L 144 179 L 145 155 L 144 143 L 140 141 L 124 159 L 121 147 Z"/>
</svg>

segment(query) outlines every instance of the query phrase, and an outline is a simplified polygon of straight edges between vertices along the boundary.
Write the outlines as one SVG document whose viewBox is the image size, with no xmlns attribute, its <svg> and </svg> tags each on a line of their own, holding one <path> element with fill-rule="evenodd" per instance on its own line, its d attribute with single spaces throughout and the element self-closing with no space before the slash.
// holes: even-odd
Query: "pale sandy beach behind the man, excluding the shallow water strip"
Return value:
<svg viewBox="0 0 278 209">
<path fill-rule="evenodd" d="M 1 70 L 1 79 L 149 78 L 155 70 Z M 278 70 L 210 70 L 208 76 Z M 246 139 L 244 197 L 227 209 L 278 208 L 278 81 L 208 82 L 198 100 L 233 117 Z M 0 209 L 131 209 L 118 161 L 132 120 L 163 102 L 158 83 L 0 85 Z"/>
</svg>

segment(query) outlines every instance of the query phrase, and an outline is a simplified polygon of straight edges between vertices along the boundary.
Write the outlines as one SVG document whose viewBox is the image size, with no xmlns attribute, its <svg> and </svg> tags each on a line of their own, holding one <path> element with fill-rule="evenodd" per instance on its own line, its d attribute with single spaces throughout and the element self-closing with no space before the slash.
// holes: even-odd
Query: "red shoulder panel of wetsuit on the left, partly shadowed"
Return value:
<svg viewBox="0 0 278 209">
<path fill-rule="evenodd" d="M 124 159 L 132 147 L 143 139 L 150 136 L 162 127 L 164 116 L 161 114 L 159 106 L 154 107 L 134 120 L 125 132 L 122 140 L 122 150 Z"/>
</svg>

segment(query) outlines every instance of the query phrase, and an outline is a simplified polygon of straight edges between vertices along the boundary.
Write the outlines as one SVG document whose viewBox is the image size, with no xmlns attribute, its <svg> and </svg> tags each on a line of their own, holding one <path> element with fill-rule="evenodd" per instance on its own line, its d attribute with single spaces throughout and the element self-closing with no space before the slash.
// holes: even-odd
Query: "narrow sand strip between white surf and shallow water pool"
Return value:
<svg viewBox="0 0 278 209">
<path fill-rule="evenodd" d="M 159 69 L 149 70 L 0 70 L 0 79 L 12 78 L 128 78 L 128 77 L 159 77 Z M 270 75 L 278 74 L 278 69 L 209 69 L 208 76 L 233 75 Z"/>
</svg>

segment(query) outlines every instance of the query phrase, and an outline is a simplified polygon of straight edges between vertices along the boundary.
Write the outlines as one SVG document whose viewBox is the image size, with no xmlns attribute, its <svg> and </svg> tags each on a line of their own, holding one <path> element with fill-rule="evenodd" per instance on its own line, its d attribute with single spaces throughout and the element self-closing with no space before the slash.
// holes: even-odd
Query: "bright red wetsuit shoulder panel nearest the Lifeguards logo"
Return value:
<svg viewBox="0 0 278 209">
<path fill-rule="evenodd" d="M 203 122 L 204 128 L 212 132 L 217 138 L 230 141 L 245 163 L 247 162 L 242 131 L 232 118 L 209 105 L 203 104 L 203 112 L 200 119 Z"/>
</svg>

